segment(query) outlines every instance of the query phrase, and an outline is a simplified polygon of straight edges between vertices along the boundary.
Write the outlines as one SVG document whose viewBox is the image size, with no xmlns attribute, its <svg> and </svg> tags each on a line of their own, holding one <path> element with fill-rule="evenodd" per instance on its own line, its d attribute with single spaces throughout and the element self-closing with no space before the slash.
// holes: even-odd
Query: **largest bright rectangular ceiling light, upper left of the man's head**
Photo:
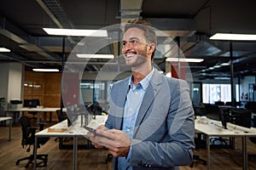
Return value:
<svg viewBox="0 0 256 170">
<path fill-rule="evenodd" d="M 43 28 L 49 35 L 55 36 L 81 36 L 81 37 L 108 37 L 107 30 L 80 30 L 80 29 L 61 29 Z"/>
</svg>

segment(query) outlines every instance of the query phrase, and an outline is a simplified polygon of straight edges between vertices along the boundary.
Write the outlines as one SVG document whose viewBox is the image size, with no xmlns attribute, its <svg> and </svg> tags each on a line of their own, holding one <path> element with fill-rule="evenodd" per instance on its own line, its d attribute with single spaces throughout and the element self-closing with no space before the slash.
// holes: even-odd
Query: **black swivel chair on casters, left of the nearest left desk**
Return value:
<svg viewBox="0 0 256 170">
<path fill-rule="evenodd" d="M 28 160 L 28 162 L 25 165 L 25 167 L 28 168 L 29 165 L 34 160 L 35 133 L 36 133 L 36 130 L 38 129 L 38 127 L 31 126 L 31 122 L 30 122 L 30 119 L 28 116 L 21 116 L 19 122 L 21 124 L 21 129 L 22 129 L 22 139 L 21 139 L 22 148 L 28 146 L 26 151 L 30 152 L 30 148 L 31 148 L 31 146 L 33 146 L 33 150 L 32 150 L 32 155 L 20 158 L 19 160 L 16 161 L 16 165 L 19 165 L 20 161 Z M 40 125 L 39 130 L 43 130 L 44 123 L 40 123 L 39 125 Z M 45 144 L 48 140 L 49 140 L 49 138 L 38 138 L 37 148 L 40 148 L 40 145 Z M 44 161 L 44 167 L 47 166 L 47 161 L 48 161 L 47 154 L 37 155 L 37 159 Z"/>
</svg>

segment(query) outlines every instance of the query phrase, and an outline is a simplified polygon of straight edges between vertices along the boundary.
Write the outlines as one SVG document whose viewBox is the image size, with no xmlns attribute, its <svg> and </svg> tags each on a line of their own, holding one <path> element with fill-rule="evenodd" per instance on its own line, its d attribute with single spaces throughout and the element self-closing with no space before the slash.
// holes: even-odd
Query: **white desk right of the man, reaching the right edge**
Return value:
<svg viewBox="0 0 256 170">
<path fill-rule="evenodd" d="M 222 128 L 221 122 L 210 120 L 207 124 L 195 120 L 195 131 L 207 136 L 207 169 L 210 169 L 210 137 L 241 137 L 243 169 L 247 170 L 247 137 L 256 136 L 256 128 L 240 127 L 227 123 L 227 129 Z"/>
</svg>

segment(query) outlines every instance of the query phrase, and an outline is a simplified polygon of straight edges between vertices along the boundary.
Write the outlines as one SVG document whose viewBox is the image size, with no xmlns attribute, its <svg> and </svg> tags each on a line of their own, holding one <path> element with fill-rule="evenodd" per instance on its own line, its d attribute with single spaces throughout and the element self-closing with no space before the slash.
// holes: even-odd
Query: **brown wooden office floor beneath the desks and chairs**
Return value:
<svg viewBox="0 0 256 170">
<path fill-rule="evenodd" d="M 21 128 L 19 124 L 14 124 L 12 128 L 12 139 L 8 141 L 8 128 L 0 127 L 0 169 L 5 170 L 21 170 L 26 169 L 24 166 L 26 161 L 20 161 L 20 165 L 16 166 L 15 161 L 20 157 L 28 156 L 29 153 L 21 146 Z M 72 169 L 73 168 L 73 150 L 59 150 L 58 141 L 55 138 L 49 139 L 38 153 L 47 153 L 49 161 L 47 167 L 38 167 L 39 170 L 55 170 L 55 169 Z M 248 141 L 248 154 L 256 155 L 256 144 Z M 207 159 L 207 150 L 201 149 L 195 151 L 196 155 Z M 108 150 L 78 150 L 78 170 L 111 170 L 112 162 L 106 164 L 105 160 L 108 156 Z M 230 149 L 212 149 L 211 150 L 211 169 L 242 169 L 241 157 L 241 139 L 236 139 L 236 150 Z M 32 166 L 28 168 L 32 169 Z M 181 170 L 205 170 L 206 165 L 195 161 L 194 167 L 181 167 Z M 256 156 L 248 159 L 248 169 L 256 169 Z"/>
</svg>

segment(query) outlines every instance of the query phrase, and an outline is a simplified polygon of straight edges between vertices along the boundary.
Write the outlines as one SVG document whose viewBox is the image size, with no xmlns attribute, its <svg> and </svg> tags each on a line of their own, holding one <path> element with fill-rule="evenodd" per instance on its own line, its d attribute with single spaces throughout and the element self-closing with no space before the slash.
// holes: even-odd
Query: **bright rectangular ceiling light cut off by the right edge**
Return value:
<svg viewBox="0 0 256 170">
<path fill-rule="evenodd" d="M 216 33 L 211 40 L 234 40 L 234 41 L 255 41 L 255 34 L 226 34 L 226 33 Z"/>
</svg>

